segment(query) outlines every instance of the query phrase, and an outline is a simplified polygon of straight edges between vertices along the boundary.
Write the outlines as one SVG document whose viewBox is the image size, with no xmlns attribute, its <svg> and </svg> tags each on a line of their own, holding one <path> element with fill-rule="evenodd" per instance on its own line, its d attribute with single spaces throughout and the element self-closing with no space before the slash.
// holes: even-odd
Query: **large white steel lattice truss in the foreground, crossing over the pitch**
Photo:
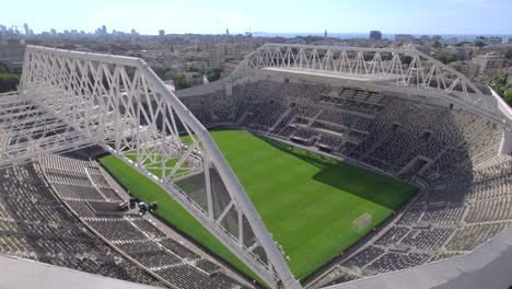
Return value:
<svg viewBox="0 0 512 289">
<path fill-rule="evenodd" d="M 19 92 L 1 96 L 0 109 L 11 136 L 0 137 L 0 166 L 98 144 L 164 188 L 269 286 L 301 288 L 206 128 L 141 59 L 27 46 Z M 4 151 L 20 147 L 5 125 L 43 127 L 48 136 L 33 140 L 48 146 Z"/>
</svg>

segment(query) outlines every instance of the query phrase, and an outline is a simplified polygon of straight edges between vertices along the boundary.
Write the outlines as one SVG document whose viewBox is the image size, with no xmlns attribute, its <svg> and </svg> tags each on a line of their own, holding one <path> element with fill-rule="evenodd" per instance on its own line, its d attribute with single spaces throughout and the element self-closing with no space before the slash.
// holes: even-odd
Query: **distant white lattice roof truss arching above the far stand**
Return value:
<svg viewBox="0 0 512 289">
<path fill-rule="evenodd" d="M 503 122 L 498 103 L 455 69 L 415 49 L 265 44 L 236 71 L 269 69 L 373 82 L 383 88 L 447 101 Z"/>
</svg>

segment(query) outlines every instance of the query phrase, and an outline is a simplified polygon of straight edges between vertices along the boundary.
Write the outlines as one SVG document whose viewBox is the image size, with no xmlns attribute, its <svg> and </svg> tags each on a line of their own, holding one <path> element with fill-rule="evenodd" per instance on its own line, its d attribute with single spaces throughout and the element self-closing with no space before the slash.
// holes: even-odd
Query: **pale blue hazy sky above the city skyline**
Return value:
<svg viewBox="0 0 512 289">
<path fill-rule="evenodd" d="M 16 0 L 2 1 L 0 24 L 35 33 L 512 34 L 511 11 L 512 0 Z"/>
</svg>

